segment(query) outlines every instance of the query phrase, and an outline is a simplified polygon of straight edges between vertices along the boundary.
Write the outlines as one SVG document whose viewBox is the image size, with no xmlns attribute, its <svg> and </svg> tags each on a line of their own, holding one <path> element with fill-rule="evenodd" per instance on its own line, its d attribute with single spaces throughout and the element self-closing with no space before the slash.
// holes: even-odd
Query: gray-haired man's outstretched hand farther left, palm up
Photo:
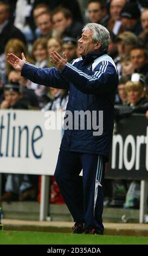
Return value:
<svg viewBox="0 0 148 256">
<path fill-rule="evenodd" d="M 8 63 L 17 71 L 21 71 L 23 68 L 23 65 L 26 61 L 24 57 L 24 53 L 22 52 L 22 59 L 18 58 L 15 54 L 13 53 L 8 53 L 7 54 L 7 60 Z"/>
</svg>

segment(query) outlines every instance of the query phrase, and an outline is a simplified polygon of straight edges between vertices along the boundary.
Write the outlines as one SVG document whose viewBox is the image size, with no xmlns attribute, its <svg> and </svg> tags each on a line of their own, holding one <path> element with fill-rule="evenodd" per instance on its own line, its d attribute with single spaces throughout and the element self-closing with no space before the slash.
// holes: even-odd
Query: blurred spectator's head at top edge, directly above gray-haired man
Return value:
<svg viewBox="0 0 148 256">
<path fill-rule="evenodd" d="M 99 23 L 107 27 L 109 15 L 106 4 L 102 0 L 89 0 L 87 11 L 90 22 Z"/>
</svg>

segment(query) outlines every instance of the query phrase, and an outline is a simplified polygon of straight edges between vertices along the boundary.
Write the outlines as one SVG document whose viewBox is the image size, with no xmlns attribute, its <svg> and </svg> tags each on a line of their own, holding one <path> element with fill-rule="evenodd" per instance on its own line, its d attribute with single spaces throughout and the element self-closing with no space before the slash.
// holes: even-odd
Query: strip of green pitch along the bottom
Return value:
<svg viewBox="0 0 148 256">
<path fill-rule="evenodd" d="M 148 237 L 0 231 L 1 245 L 148 245 Z"/>
</svg>

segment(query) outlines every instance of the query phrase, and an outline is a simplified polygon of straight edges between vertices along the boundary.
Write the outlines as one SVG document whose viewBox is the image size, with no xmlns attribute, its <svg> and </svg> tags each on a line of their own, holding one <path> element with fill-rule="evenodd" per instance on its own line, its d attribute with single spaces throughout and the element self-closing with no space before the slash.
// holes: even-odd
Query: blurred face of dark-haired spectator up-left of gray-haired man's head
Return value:
<svg viewBox="0 0 148 256">
<path fill-rule="evenodd" d="M 52 17 L 54 29 L 62 28 L 65 30 L 72 23 L 71 18 L 66 18 L 62 12 L 56 13 Z"/>
</svg>

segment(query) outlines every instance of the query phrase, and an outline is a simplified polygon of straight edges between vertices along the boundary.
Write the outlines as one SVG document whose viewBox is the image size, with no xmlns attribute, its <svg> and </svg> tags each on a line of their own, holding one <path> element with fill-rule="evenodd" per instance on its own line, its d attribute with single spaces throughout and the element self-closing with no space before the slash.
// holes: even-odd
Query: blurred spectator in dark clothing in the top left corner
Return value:
<svg viewBox="0 0 148 256">
<path fill-rule="evenodd" d="M 9 5 L 0 1 L 0 55 L 4 53 L 7 42 L 12 38 L 17 38 L 26 44 L 25 36 L 9 21 Z"/>
</svg>

